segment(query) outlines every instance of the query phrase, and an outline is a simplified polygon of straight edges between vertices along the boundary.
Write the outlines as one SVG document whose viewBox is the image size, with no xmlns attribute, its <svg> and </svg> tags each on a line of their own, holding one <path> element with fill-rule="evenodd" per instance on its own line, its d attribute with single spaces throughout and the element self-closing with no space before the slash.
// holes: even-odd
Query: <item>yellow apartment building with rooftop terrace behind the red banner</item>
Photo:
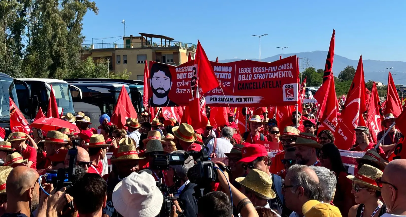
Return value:
<svg viewBox="0 0 406 217">
<path fill-rule="evenodd" d="M 180 65 L 188 61 L 189 53 L 194 58 L 197 45 L 183 43 L 157 34 L 138 33 L 140 36 L 123 37 L 122 43 L 94 43 L 83 45 L 84 55 L 96 60 L 109 60 L 110 71 L 130 71 L 130 79 L 144 79 L 145 62 L 153 60 L 166 64 Z"/>
</svg>

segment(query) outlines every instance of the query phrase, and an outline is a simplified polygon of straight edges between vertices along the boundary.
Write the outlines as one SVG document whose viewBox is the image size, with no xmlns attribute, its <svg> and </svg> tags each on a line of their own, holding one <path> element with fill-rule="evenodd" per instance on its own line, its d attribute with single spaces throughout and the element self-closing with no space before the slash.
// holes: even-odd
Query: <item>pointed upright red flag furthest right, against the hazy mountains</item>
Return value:
<svg viewBox="0 0 406 217">
<path fill-rule="evenodd" d="M 402 112 L 402 103 L 400 103 L 399 95 L 397 95 L 396 86 L 395 83 L 393 83 L 391 72 L 389 72 L 388 75 L 388 92 L 386 95 L 386 101 L 385 114 L 392 113 L 395 118 L 399 116 Z"/>
</svg>

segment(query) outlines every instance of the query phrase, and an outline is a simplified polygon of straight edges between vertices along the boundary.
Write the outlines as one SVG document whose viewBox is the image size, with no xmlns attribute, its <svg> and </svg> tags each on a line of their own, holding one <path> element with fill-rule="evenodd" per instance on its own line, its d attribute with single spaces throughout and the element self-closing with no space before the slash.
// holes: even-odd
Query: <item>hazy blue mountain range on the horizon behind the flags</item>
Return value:
<svg viewBox="0 0 406 217">
<path fill-rule="evenodd" d="M 282 54 L 278 54 L 275 56 L 270 56 L 267 58 L 262 58 L 261 61 L 263 62 L 273 62 L 279 60 L 279 56 Z M 315 69 L 324 69 L 324 65 L 326 64 L 326 57 L 327 51 L 313 51 L 313 52 L 300 52 L 300 53 L 291 53 L 291 54 L 283 54 L 284 57 L 297 55 L 298 57 L 305 57 L 309 58 L 310 63 L 309 67 L 315 67 Z M 244 59 L 230 59 L 230 60 L 219 60 L 218 62 L 233 62 L 238 60 Z M 256 60 L 259 59 L 249 59 L 249 60 Z M 300 60 L 299 60 L 300 64 Z M 355 69 L 358 65 L 358 60 L 350 60 L 346 57 L 339 56 L 337 54 L 334 55 L 334 62 L 333 62 L 333 73 L 335 76 L 338 77 L 340 71 L 342 71 L 348 65 L 353 66 Z M 306 63 L 305 59 L 302 59 L 302 66 L 305 68 Z M 388 83 L 388 70 L 385 67 L 393 67 L 391 69 L 392 74 L 394 75 L 395 84 L 406 84 L 406 62 L 402 61 L 380 61 L 380 60 L 363 60 L 364 66 L 364 76 L 365 82 L 368 80 L 373 80 L 375 82 L 382 82 L 382 84 L 387 85 Z M 302 69 L 303 70 L 303 69 Z"/>
</svg>

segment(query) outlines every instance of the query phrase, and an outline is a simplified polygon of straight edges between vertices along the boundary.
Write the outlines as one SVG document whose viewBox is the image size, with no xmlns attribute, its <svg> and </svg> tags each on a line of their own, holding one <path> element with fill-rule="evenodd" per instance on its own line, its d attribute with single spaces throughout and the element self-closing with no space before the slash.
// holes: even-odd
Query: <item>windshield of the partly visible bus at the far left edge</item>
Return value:
<svg viewBox="0 0 406 217">
<path fill-rule="evenodd" d="M 17 107 L 17 92 L 13 80 L 0 79 L 0 116 L 10 116 L 10 100 L 11 97 Z"/>
</svg>

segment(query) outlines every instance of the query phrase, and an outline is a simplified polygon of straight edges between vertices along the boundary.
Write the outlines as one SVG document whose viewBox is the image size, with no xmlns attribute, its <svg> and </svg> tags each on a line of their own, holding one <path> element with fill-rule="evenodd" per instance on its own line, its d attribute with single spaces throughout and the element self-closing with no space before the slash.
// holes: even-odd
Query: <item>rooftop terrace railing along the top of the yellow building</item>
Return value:
<svg viewBox="0 0 406 217">
<path fill-rule="evenodd" d="M 186 49 L 196 49 L 197 45 L 192 43 L 183 43 L 180 41 L 171 41 L 170 43 L 161 42 L 136 42 L 136 43 L 96 43 L 96 44 L 82 44 L 83 49 L 123 49 L 123 48 L 160 48 L 160 47 L 183 47 Z"/>
</svg>

